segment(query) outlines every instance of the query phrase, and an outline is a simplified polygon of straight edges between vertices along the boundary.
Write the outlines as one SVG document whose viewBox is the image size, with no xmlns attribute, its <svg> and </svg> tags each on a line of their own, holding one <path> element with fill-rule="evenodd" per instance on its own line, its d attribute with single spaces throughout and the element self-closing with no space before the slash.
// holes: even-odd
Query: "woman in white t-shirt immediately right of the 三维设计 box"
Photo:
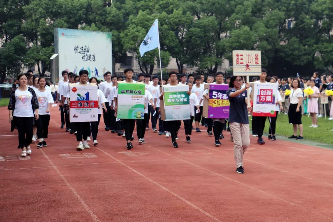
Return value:
<svg viewBox="0 0 333 222">
<path fill-rule="evenodd" d="M 98 86 L 98 82 L 97 82 L 97 79 L 95 77 L 90 78 L 89 82 L 90 83 L 95 83 Z M 102 108 L 104 109 L 105 113 L 108 112 L 108 110 L 105 106 L 105 102 L 107 102 L 107 100 L 104 96 L 104 93 L 100 89 L 97 90 L 97 96 L 98 96 L 98 100 L 99 100 L 98 121 L 90 122 L 91 135 L 93 136 L 94 146 L 97 146 L 97 144 L 98 144 L 98 142 L 97 142 L 97 133 L 98 133 L 98 126 L 100 124 L 100 119 L 101 119 L 101 115 L 102 115 Z"/>
</svg>

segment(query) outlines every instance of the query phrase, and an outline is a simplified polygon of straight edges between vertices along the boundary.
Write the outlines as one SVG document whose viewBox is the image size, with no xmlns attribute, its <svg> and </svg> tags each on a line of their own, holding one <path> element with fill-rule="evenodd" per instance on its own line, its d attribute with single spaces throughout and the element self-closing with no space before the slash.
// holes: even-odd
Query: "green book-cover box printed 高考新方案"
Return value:
<svg viewBox="0 0 333 222">
<path fill-rule="evenodd" d="M 118 82 L 117 118 L 145 117 L 145 84 Z"/>
</svg>

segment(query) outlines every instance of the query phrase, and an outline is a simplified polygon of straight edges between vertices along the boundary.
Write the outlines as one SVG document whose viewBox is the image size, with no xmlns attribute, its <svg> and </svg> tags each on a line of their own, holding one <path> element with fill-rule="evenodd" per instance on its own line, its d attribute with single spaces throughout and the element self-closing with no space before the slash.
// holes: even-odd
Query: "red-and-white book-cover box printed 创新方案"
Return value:
<svg viewBox="0 0 333 222">
<path fill-rule="evenodd" d="M 253 116 L 275 116 L 277 102 L 277 83 L 251 83 L 253 98 Z"/>
</svg>

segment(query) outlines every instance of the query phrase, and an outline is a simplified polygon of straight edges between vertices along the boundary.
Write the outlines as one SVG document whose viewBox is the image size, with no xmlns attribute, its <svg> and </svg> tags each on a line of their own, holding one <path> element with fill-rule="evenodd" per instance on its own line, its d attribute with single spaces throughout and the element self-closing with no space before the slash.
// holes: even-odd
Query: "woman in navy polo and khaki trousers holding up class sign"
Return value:
<svg viewBox="0 0 333 222">
<path fill-rule="evenodd" d="M 233 137 L 233 152 L 236 160 L 236 172 L 244 173 L 243 155 L 250 144 L 250 128 L 248 111 L 251 111 L 251 105 L 247 104 L 246 89 L 250 87 L 249 83 L 242 86 L 240 76 L 232 76 L 230 79 L 227 96 L 230 102 L 229 125 Z"/>
</svg>

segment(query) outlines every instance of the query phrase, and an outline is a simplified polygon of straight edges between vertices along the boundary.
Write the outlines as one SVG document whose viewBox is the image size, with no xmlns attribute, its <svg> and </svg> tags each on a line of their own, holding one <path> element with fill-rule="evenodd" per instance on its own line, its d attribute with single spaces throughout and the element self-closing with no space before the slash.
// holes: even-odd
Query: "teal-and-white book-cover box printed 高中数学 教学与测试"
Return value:
<svg viewBox="0 0 333 222">
<path fill-rule="evenodd" d="M 164 121 L 190 119 L 188 86 L 163 86 L 163 103 L 160 103 L 161 119 Z"/>
</svg>

